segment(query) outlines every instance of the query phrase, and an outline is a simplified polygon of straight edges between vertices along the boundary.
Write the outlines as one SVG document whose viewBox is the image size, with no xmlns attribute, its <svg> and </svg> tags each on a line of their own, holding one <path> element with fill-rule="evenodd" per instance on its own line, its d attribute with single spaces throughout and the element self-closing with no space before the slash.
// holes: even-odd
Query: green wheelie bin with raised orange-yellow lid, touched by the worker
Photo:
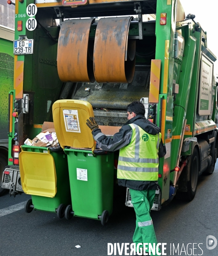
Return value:
<svg viewBox="0 0 218 256">
<path fill-rule="evenodd" d="M 97 155 L 86 120 L 94 116 L 89 102 L 58 100 L 52 106 L 57 139 L 68 158 L 71 200 L 65 218 L 108 221 L 113 209 L 113 153 Z"/>
</svg>

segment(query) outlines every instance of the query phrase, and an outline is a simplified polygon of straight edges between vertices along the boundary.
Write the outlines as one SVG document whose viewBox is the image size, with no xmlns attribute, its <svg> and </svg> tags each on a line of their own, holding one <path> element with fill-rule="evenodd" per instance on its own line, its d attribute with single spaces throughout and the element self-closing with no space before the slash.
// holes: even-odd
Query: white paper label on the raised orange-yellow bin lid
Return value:
<svg viewBox="0 0 218 256">
<path fill-rule="evenodd" d="M 78 111 L 72 109 L 63 109 L 63 115 L 66 131 L 80 133 Z"/>
</svg>

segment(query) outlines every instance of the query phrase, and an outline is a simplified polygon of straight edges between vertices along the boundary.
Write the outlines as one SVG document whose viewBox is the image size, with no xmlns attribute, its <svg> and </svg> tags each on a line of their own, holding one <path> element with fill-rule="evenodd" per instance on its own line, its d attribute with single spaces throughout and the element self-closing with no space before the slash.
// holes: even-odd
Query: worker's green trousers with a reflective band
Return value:
<svg viewBox="0 0 218 256">
<path fill-rule="evenodd" d="M 133 235 L 133 243 L 155 243 L 157 244 L 156 235 L 154 232 L 154 226 L 150 217 L 150 209 L 153 206 L 156 190 L 134 190 L 130 189 L 130 195 L 132 198 L 132 204 L 136 212 L 136 230 Z M 140 246 L 142 248 L 143 246 Z M 146 246 L 148 248 L 148 245 Z M 148 253 L 148 250 L 146 250 Z M 159 250 L 160 252 L 160 250 Z M 152 254 L 151 255 L 157 255 Z"/>
</svg>

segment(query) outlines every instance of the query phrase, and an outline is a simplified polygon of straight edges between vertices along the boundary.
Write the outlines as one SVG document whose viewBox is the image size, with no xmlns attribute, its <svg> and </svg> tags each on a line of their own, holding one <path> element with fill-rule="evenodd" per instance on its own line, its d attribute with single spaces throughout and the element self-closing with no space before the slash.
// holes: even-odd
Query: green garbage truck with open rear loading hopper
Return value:
<svg viewBox="0 0 218 256">
<path fill-rule="evenodd" d="M 140 101 L 167 151 L 153 210 L 174 196 L 193 200 L 198 176 L 214 171 L 218 147 L 216 56 L 194 14 L 185 16 L 179 0 L 19 0 L 15 28 L 13 140 L 2 183 L 10 195 L 23 192 L 21 147 L 54 121 L 55 102 L 90 103 L 113 136 L 127 121 L 127 105 Z M 124 202 L 132 207 L 128 189 Z"/>
</svg>

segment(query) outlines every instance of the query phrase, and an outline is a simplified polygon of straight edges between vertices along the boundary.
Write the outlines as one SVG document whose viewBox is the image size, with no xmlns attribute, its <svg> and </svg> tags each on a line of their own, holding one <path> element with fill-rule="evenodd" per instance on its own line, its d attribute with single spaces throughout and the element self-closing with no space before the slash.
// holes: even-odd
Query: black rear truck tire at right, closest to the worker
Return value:
<svg viewBox="0 0 218 256">
<path fill-rule="evenodd" d="M 192 201 L 196 194 L 197 184 L 198 184 L 198 174 L 199 174 L 199 154 L 197 148 L 194 148 L 193 154 L 191 155 L 190 164 L 187 167 L 189 173 L 187 182 L 187 192 L 176 192 L 176 199 Z"/>
</svg>

